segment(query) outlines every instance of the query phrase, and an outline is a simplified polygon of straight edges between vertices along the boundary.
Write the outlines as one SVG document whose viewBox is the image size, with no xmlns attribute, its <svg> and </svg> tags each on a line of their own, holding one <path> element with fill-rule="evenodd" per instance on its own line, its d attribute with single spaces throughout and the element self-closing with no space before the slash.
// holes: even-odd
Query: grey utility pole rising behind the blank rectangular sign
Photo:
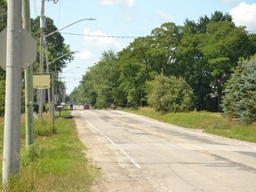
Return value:
<svg viewBox="0 0 256 192">
<path fill-rule="evenodd" d="M 44 73 L 44 28 L 45 28 L 45 16 L 44 16 L 44 0 L 41 3 L 41 16 L 40 16 L 40 63 L 39 63 L 39 74 Z M 38 120 L 41 123 L 43 121 L 43 90 L 39 90 L 39 116 Z"/>
</svg>

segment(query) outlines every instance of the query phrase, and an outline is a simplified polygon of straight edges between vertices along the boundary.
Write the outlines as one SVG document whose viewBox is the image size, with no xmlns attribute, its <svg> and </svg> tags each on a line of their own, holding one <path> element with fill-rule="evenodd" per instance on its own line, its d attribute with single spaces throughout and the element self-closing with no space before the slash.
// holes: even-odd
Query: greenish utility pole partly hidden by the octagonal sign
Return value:
<svg viewBox="0 0 256 192">
<path fill-rule="evenodd" d="M 29 0 L 22 0 L 23 28 L 31 33 Z M 34 143 L 34 119 L 33 119 L 33 65 L 25 70 L 25 114 L 26 114 L 26 147 Z"/>
</svg>

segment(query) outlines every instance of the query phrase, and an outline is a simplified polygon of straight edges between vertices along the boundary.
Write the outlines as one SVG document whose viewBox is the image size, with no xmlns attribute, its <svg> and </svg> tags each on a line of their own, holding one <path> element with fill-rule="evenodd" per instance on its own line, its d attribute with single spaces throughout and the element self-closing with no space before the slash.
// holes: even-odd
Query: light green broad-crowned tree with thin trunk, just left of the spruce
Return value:
<svg viewBox="0 0 256 192">
<path fill-rule="evenodd" d="M 208 60 L 209 73 L 213 77 L 212 93 L 216 92 L 220 111 L 223 86 L 239 57 L 248 56 L 250 44 L 244 28 L 237 28 L 229 21 L 210 22 L 206 32 L 200 50 Z"/>
</svg>

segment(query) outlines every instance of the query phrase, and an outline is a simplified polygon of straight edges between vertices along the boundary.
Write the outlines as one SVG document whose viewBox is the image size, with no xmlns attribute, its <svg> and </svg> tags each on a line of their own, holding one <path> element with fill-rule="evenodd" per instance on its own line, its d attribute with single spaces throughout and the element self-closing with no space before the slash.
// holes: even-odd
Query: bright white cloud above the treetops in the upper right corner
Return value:
<svg viewBox="0 0 256 192">
<path fill-rule="evenodd" d="M 256 29 L 256 4 L 238 4 L 231 9 L 230 14 L 236 26 L 245 26 L 249 31 Z"/>
</svg>

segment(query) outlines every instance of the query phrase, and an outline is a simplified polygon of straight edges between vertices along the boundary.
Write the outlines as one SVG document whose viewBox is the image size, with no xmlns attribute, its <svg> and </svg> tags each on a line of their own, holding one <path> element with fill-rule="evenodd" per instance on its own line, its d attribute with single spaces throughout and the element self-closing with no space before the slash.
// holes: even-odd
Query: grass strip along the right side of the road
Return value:
<svg viewBox="0 0 256 192">
<path fill-rule="evenodd" d="M 203 129 L 204 132 L 256 143 L 256 126 L 238 124 L 221 116 L 220 113 L 188 112 L 161 114 L 153 108 L 126 109 L 128 112 L 148 116 L 164 123 L 176 124 L 185 128 Z"/>
</svg>

